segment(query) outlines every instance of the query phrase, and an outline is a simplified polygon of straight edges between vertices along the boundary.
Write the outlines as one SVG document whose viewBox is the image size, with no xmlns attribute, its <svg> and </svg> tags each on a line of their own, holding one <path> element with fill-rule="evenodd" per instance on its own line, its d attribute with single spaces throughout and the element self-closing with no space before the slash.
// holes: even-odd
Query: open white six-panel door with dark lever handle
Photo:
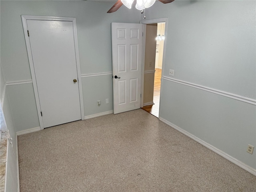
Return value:
<svg viewBox="0 0 256 192">
<path fill-rule="evenodd" d="M 140 108 L 143 24 L 112 23 L 111 27 L 113 100 L 117 114 Z"/>
</svg>

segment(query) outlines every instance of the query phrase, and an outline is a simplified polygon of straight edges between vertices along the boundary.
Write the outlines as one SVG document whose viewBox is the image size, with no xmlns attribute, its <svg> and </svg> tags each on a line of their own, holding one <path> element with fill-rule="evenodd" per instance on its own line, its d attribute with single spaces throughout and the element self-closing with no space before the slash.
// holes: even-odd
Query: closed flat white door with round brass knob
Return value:
<svg viewBox="0 0 256 192">
<path fill-rule="evenodd" d="M 81 119 L 72 22 L 27 20 L 44 128 Z"/>
</svg>

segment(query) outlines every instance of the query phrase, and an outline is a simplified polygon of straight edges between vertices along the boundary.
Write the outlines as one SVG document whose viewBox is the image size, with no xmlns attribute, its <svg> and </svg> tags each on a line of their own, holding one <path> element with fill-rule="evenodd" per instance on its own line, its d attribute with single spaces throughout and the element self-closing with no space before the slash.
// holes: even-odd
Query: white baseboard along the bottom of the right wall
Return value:
<svg viewBox="0 0 256 192">
<path fill-rule="evenodd" d="M 241 162 L 240 160 L 237 160 L 236 158 L 230 156 L 229 154 L 226 154 L 225 152 L 223 152 L 222 150 L 212 146 L 211 144 L 206 143 L 205 141 L 201 140 L 200 138 L 192 135 L 190 132 L 187 132 L 186 130 L 172 124 L 171 122 L 163 119 L 163 118 L 159 118 L 160 121 L 170 125 L 172 128 L 178 130 L 179 132 L 182 132 L 183 134 L 185 134 L 186 136 L 192 138 L 193 140 L 195 140 L 196 142 L 202 144 L 203 146 L 207 147 L 208 149 L 212 150 L 213 152 L 219 154 L 220 156 L 224 157 L 225 159 L 229 160 L 230 162 L 236 164 L 237 166 L 243 168 L 244 170 L 248 171 L 249 173 L 253 174 L 256 176 L 256 169 L 244 164 L 243 162 Z"/>
</svg>

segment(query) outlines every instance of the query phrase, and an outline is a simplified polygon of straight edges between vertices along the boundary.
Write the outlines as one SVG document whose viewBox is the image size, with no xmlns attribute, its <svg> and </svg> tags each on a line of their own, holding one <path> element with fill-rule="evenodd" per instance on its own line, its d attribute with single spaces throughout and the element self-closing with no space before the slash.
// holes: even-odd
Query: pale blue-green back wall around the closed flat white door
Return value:
<svg viewBox="0 0 256 192">
<path fill-rule="evenodd" d="M 111 22 L 140 21 L 140 11 L 124 6 L 107 14 L 113 3 L 105 2 L 8 0 L 0 4 L 1 62 L 6 82 L 31 80 L 21 15 L 75 17 L 81 74 L 112 72 Z M 113 110 L 110 75 L 84 77 L 82 88 L 85 116 Z M 17 131 L 39 126 L 32 84 L 7 86 L 7 91 Z M 102 100 L 100 107 L 96 98 Z"/>
</svg>

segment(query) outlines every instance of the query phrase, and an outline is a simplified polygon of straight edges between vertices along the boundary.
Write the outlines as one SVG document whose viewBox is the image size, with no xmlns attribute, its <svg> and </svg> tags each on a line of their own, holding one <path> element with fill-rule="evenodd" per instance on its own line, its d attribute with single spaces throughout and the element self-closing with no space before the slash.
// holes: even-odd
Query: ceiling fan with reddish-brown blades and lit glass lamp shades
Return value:
<svg viewBox="0 0 256 192">
<path fill-rule="evenodd" d="M 131 8 L 132 7 L 132 3 L 133 3 L 133 1 L 134 0 L 118 0 L 113 6 L 112 6 L 112 8 L 110 8 L 110 10 L 108 10 L 108 12 L 107 13 L 113 13 L 113 12 L 116 12 L 121 6 L 122 6 L 122 4 L 124 4 L 126 7 L 128 7 L 128 8 Z M 149 6 L 147 6 L 147 7 L 145 7 L 145 6 L 137 6 L 138 5 L 138 3 L 136 4 L 136 8 L 138 9 L 138 10 L 143 10 L 144 8 L 148 8 L 148 7 L 150 7 L 150 6 L 152 6 L 153 4 L 154 4 L 154 2 L 156 1 L 156 0 L 148 0 L 149 2 L 150 2 L 150 5 Z M 173 2 L 174 0 L 158 0 L 158 1 L 160 1 L 160 2 L 162 2 L 162 3 L 164 3 L 164 4 L 166 4 L 166 3 L 171 3 L 171 2 Z M 124 3 L 123 3 L 124 2 Z M 142 0 L 138 0 L 138 2 L 142 2 Z M 143 2 L 146 2 L 146 0 L 144 0 Z"/>
</svg>

